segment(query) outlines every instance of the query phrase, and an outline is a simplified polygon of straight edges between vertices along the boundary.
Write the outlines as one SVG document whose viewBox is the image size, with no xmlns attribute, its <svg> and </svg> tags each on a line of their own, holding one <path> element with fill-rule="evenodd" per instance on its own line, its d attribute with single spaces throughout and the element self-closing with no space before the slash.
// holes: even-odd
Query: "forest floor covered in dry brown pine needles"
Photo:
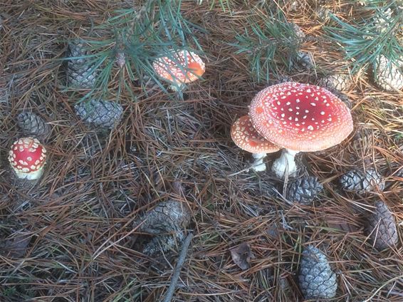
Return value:
<svg viewBox="0 0 403 302">
<path fill-rule="evenodd" d="M 122 96 L 122 123 L 88 158 L 80 142 L 90 130 L 75 116 L 75 100 L 61 91 L 64 67 L 55 58 L 63 57 L 66 39 L 88 33 L 90 21 L 100 24 L 129 4 L 0 0 L 0 68 L 11 87 L 9 102 L 0 103 L 0 234 L 3 243 L 14 232 L 28 236 L 21 254 L 0 256 L 1 301 L 159 301 L 177 254 L 141 254 L 132 222 L 167 199 L 189 205 L 194 231 L 174 301 L 303 301 L 296 274 L 308 244 L 326 251 L 337 272 L 333 301 L 403 301 L 402 245 L 376 251 L 362 226 L 373 202 L 382 199 L 400 224 L 402 241 L 402 93 L 380 91 L 365 73 L 356 77 L 348 91 L 352 135 L 330 150 L 303 155 L 307 171 L 324 184 L 323 194 L 310 207 L 273 198 L 270 173 L 237 173 L 250 157 L 229 135 L 231 123 L 264 87 L 253 82 L 246 58 L 226 44 L 234 41 L 233 28 L 244 28 L 251 5 L 234 1 L 231 15 L 206 2 L 183 4 L 183 14 L 208 31 L 195 33 L 206 53 L 204 80 L 180 101 L 162 92 L 146 97 L 133 87 L 137 100 Z M 318 6 L 300 1 L 298 10 L 288 4 L 283 10 L 305 33 L 320 36 Z M 349 14 L 340 1 L 327 6 Z M 316 42 L 304 49 L 323 69 L 333 68 L 339 56 Z M 15 118 L 22 110 L 53 127 L 46 143 L 50 160 L 35 192 L 6 179 L 6 154 L 19 136 Z M 387 189 L 366 197 L 342 192 L 337 179 L 352 167 L 376 167 Z M 273 226 L 278 232 L 271 236 Z M 243 242 L 255 256 L 246 271 L 229 253 Z"/>
</svg>

